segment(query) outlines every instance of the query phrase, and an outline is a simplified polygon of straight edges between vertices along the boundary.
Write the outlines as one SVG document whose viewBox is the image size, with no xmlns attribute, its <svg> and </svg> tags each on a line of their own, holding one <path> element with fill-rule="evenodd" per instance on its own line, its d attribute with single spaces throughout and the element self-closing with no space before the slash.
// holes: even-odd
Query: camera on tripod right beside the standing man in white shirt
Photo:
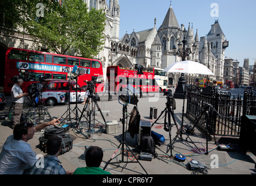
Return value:
<svg viewBox="0 0 256 186">
<path fill-rule="evenodd" d="M 36 95 L 36 97 L 35 97 L 35 99 L 33 99 L 35 95 Z M 40 123 L 42 116 L 44 117 L 44 120 L 45 120 L 46 115 L 48 115 L 49 119 L 52 120 L 52 117 L 49 114 L 49 111 L 47 109 L 47 106 L 42 101 L 42 92 L 35 92 L 31 97 L 33 99 L 32 101 L 29 97 L 27 97 L 29 99 L 29 101 L 31 102 L 31 104 L 32 104 L 31 107 L 29 108 L 29 110 L 26 113 L 25 118 L 27 119 L 27 121 L 31 120 L 31 122 L 34 123 L 33 120 L 31 119 L 31 116 L 35 115 L 35 113 L 38 114 L 38 120 L 35 119 L 35 122 L 37 122 L 37 123 Z M 29 115 L 29 113 L 31 111 L 34 111 L 34 112 Z"/>
</svg>

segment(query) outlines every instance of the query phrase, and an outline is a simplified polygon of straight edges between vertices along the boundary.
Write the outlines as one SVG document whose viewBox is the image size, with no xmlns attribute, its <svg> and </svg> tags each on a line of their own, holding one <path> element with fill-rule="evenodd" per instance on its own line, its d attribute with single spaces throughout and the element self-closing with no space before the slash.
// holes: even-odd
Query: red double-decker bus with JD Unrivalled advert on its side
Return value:
<svg viewBox="0 0 256 186">
<path fill-rule="evenodd" d="M 73 73 L 74 66 L 84 69 L 81 70 L 83 74 Z M 102 64 L 99 60 L 8 48 L 5 56 L 4 92 L 10 93 L 14 76 L 24 80 L 22 88 L 25 92 L 32 83 L 40 81 L 41 77 L 67 80 L 75 76 L 77 84 L 82 88 L 86 85 L 85 80 L 96 82 L 96 92 L 102 92 L 104 88 Z"/>
</svg>

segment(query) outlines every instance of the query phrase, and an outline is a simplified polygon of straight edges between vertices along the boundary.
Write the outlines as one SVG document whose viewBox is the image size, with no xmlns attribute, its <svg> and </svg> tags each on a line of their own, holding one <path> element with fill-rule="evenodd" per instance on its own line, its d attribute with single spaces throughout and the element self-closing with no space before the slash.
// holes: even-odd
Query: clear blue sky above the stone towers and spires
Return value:
<svg viewBox="0 0 256 186">
<path fill-rule="evenodd" d="M 218 4 L 218 17 L 212 17 L 212 3 Z M 157 29 L 161 26 L 168 12 L 169 0 L 119 0 L 120 6 L 120 38 L 126 31 L 143 31 L 154 27 L 157 18 Z M 172 8 L 177 22 L 186 29 L 193 23 L 194 34 L 198 29 L 199 37 L 211 30 L 211 24 L 219 20 L 219 24 L 229 41 L 225 56 L 237 59 L 243 66 L 244 58 L 250 65 L 256 59 L 256 1 L 254 0 L 173 0 Z M 216 12 L 214 12 L 216 13 Z"/>
</svg>

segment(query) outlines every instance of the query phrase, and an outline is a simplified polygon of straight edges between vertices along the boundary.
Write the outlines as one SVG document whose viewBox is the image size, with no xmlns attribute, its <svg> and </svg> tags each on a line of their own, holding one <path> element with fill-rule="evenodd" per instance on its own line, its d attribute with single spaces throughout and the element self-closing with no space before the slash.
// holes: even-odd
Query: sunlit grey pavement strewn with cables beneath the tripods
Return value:
<svg viewBox="0 0 256 186">
<path fill-rule="evenodd" d="M 6 115 L 9 111 L 10 106 L 10 96 L 8 98 L 8 103 L 4 110 L 0 112 L 0 115 Z M 130 133 L 124 133 L 125 141 L 122 141 L 123 131 L 127 131 L 128 125 L 125 123 L 123 127 L 122 122 L 122 109 L 123 105 L 118 99 L 117 95 L 112 95 L 112 101 L 108 101 L 108 95 L 101 95 L 100 101 L 98 101 L 98 106 L 102 110 L 104 117 L 102 117 L 99 112 L 95 114 L 95 127 L 91 127 L 91 132 L 88 133 L 88 128 L 86 128 L 88 116 L 87 112 L 84 111 L 84 104 L 78 103 L 77 108 L 79 112 L 79 117 L 81 120 L 79 122 L 79 127 L 76 125 L 75 115 L 73 112 L 70 113 L 72 120 L 65 119 L 62 124 L 69 124 L 71 128 L 66 133 L 73 138 L 73 147 L 69 152 L 64 153 L 59 156 L 59 160 L 62 162 L 62 166 L 65 170 L 75 170 L 77 167 L 86 166 L 85 152 L 89 146 L 99 146 L 104 151 L 104 158 L 101 163 L 102 169 L 104 166 L 106 171 L 112 173 L 112 175 L 136 175 L 145 176 L 148 175 L 184 175 L 184 174 L 255 174 L 255 162 L 256 158 L 251 152 L 242 153 L 237 144 L 239 139 L 231 137 L 221 137 L 217 136 L 216 140 L 220 144 L 229 144 L 234 147 L 234 151 L 220 151 L 215 141 L 211 138 L 207 141 L 204 133 L 201 133 L 197 127 L 195 127 L 195 134 L 182 134 L 177 135 L 177 131 L 182 123 L 182 109 L 183 109 L 183 99 L 175 99 L 176 109 L 174 110 L 175 120 L 177 126 L 174 125 L 173 118 L 172 127 L 170 128 L 170 133 L 164 130 L 164 113 L 161 112 L 166 108 L 166 96 L 162 94 L 159 95 L 143 95 L 143 98 L 138 98 L 138 112 L 140 113 L 142 121 L 150 121 L 151 124 L 155 122 L 156 119 L 150 118 L 150 108 L 155 107 L 157 109 L 157 123 L 151 127 L 151 131 L 155 133 L 162 134 L 165 138 L 165 143 L 157 145 L 156 152 L 158 154 L 157 158 L 150 158 L 151 156 L 145 155 L 146 160 L 140 159 L 140 150 L 138 149 L 138 138 L 131 138 Z M 97 105 L 94 105 L 97 108 Z M 130 113 L 134 105 L 127 106 L 127 112 Z M 26 102 L 24 104 L 24 112 L 29 110 L 30 105 Z M 70 110 L 76 108 L 75 103 L 70 104 Z M 186 101 L 184 108 L 186 108 Z M 67 105 L 57 105 L 54 107 L 47 107 L 51 117 L 58 118 L 67 116 Z M 97 110 L 97 109 L 96 109 Z M 185 109 L 186 113 L 186 109 Z M 36 116 L 35 116 L 36 117 Z M 47 116 L 48 117 L 48 116 Z M 46 117 L 46 119 L 47 119 Z M 98 127 L 104 124 L 104 119 L 108 123 L 108 134 L 106 133 L 105 127 Z M 0 120 L 0 151 L 2 145 L 6 138 L 12 134 L 12 129 L 9 124 L 12 119 Z M 116 123 L 109 125 L 109 123 Z M 127 119 L 129 123 L 129 118 Z M 193 122 L 184 115 L 184 125 L 193 126 Z M 123 129 L 124 128 L 124 129 Z M 37 155 L 45 155 L 39 148 L 39 138 L 42 136 L 44 131 L 35 133 L 34 138 L 29 141 L 31 148 Z M 138 135 L 137 135 L 138 136 Z M 170 149 L 170 141 L 172 141 L 173 148 Z M 119 147 L 119 148 L 118 148 Z M 208 147 L 208 148 L 207 148 Z M 198 151 L 199 149 L 199 151 Z M 120 152 L 124 152 L 123 154 Z M 116 153 L 115 153 L 116 152 Z M 177 156 L 179 154 L 180 156 Z M 113 156 L 113 158 L 112 158 Z M 134 158 L 134 157 L 137 157 Z M 149 157 L 149 158 L 148 158 Z M 180 161 L 179 161 L 180 160 Z M 196 160 L 191 161 L 191 160 Z M 199 162 L 199 164 L 197 164 Z M 196 164 L 193 164 L 196 163 Z M 192 166 L 190 169 L 189 164 Z M 200 169 L 196 167 L 200 166 Z M 193 167 L 195 168 L 193 169 Z"/>
</svg>

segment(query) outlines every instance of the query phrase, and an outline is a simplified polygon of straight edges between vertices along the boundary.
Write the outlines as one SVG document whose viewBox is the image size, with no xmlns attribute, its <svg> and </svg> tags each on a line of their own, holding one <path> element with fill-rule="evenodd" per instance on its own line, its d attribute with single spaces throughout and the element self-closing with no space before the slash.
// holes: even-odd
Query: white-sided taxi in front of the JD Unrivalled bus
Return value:
<svg viewBox="0 0 256 186">
<path fill-rule="evenodd" d="M 70 103 L 76 102 L 76 81 L 69 80 L 57 80 L 57 79 L 46 79 L 44 80 L 42 85 L 37 85 L 37 87 L 41 87 L 41 98 L 42 101 L 47 106 L 54 106 L 57 103 L 65 103 L 68 101 L 66 99 L 67 93 L 70 91 Z M 34 86 L 36 87 L 36 86 Z M 70 87 L 70 90 L 69 90 Z M 80 88 L 80 85 L 77 84 L 77 102 L 84 101 L 84 95 L 86 94 L 86 90 Z"/>
</svg>

